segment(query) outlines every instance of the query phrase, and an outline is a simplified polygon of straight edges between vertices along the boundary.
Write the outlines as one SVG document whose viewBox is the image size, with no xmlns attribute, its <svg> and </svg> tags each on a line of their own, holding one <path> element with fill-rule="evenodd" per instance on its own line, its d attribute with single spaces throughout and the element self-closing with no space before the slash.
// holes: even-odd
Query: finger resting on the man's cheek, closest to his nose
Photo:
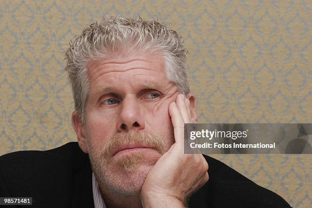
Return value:
<svg viewBox="0 0 312 208">
<path fill-rule="evenodd" d="M 169 105 L 169 115 L 173 125 L 175 143 L 183 145 L 184 142 L 184 121 L 175 102 Z"/>
</svg>

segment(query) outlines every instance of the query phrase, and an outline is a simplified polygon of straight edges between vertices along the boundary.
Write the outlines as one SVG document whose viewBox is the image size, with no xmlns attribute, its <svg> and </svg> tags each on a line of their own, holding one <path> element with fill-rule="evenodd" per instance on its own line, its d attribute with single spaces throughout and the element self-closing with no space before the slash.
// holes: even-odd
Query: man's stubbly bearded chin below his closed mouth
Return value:
<svg viewBox="0 0 312 208">
<path fill-rule="evenodd" d="M 119 154 L 107 163 L 92 157 L 91 161 L 103 188 L 118 195 L 132 196 L 140 194 L 147 174 L 160 157 L 156 151 L 136 151 Z"/>
</svg>

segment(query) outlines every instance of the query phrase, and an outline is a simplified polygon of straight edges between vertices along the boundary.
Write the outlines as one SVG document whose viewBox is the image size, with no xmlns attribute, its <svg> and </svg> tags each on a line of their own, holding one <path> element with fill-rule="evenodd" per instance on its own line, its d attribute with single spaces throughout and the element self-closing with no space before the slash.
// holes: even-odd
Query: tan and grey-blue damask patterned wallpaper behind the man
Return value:
<svg viewBox="0 0 312 208">
<path fill-rule="evenodd" d="M 103 15 L 160 17 L 184 37 L 199 122 L 312 122 L 311 1 L 1 1 L 0 155 L 75 141 L 64 50 Z M 312 204 L 311 155 L 213 155 Z"/>
</svg>

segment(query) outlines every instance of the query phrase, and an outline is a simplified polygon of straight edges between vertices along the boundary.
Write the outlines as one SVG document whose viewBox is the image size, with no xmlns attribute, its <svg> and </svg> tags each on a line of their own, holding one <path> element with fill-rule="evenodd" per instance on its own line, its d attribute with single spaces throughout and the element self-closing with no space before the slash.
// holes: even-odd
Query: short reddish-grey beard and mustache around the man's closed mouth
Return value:
<svg viewBox="0 0 312 208">
<path fill-rule="evenodd" d="M 136 195 L 141 191 L 148 172 L 166 152 L 163 138 L 134 130 L 117 133 L 99 152 L 90 144 L 88 136 L 87 141 L 91 167 L 99 184 L 116 194 L 127 196 Z M 112 158 L 116 149 L 128 143 L 142 143 L 157 150 L 160 155 L 146 159 L 142 151 L 135 151 Z M 173 141 L 170 146 L 172 144 Z"/>
</svg>

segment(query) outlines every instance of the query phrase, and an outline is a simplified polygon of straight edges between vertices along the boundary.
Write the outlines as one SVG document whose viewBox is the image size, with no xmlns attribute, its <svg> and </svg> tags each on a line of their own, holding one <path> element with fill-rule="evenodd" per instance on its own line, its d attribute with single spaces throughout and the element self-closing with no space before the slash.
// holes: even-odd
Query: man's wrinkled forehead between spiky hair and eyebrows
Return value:
<svg viewBox="0 0 312 208">
<path fill-rule="evenodd" d="M 169 82 L 164 59 L 157 54 L 112 57 L 90 62 L 87 68 L 93 93 L 129 84 L 157 89 Z"/>
</svg>

